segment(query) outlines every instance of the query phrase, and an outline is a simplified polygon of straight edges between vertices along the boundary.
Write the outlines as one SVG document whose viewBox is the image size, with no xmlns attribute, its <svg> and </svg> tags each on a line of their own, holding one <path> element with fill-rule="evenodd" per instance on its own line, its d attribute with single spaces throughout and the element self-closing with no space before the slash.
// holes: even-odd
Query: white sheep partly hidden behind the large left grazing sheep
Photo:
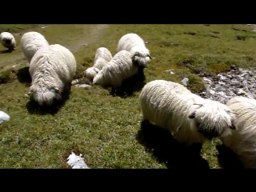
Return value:
<svg viewBox="0 0 256 192">
<path fill-rule="evenodd" d="M 21 47 L 26 60 L 30 63 L 34 54 L 42 47 L 49 46 L 46 38 L 35 31 L 27 32 L 22 35 Z"/>
</svg>

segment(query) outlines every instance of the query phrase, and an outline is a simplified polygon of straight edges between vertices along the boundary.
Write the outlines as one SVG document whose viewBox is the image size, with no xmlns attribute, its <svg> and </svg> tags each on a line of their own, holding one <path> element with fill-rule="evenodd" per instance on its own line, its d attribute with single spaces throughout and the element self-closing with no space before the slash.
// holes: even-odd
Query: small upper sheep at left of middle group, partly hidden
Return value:
<svg viewBox="0 0 256 192">
<path fill-rule="evenodd" d="M 107 62 L 110 62 L 111 59 L 112 54 L 110 50 L 105 47 L 99 47 L 95 53 L 94 67 L 98 68 L 98 70 L 102 70 L 103 66 L 106 66 Z"/>
</svg>

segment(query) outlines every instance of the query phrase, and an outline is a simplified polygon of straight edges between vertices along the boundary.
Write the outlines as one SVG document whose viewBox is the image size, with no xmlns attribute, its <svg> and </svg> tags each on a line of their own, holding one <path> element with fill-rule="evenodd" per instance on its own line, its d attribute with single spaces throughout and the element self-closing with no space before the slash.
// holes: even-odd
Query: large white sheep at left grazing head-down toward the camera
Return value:
<svg viewBox="0 0 256 192">
<path fill-rule="evenodd" d="M 32 84 L 28 95 L 40 106 L 50 106 L 62 99 L 63 90 L 68 90 L 76 72 L 74 54 L 59 44 L 38 50 L 30 62 Z"/>
</svg>

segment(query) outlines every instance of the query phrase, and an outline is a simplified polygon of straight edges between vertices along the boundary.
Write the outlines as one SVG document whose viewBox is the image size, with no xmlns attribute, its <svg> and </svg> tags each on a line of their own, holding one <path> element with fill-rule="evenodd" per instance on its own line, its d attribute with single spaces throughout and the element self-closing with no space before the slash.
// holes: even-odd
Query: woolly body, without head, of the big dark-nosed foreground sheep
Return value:
<svg viewBox="0 0 256 192">
<path fill-rule="evenodd" d="M 192 101 L 187 97 L 188 94 L 191 94 L 190 90 L 176 82 L 154 80 L 143 87 L 139 100 L 148 120 L 168 128 L 172 120 L 175 122 L 175 118 L 184 116 L 183 111 L 189 109 L 188 104 Z"/>
</svg>

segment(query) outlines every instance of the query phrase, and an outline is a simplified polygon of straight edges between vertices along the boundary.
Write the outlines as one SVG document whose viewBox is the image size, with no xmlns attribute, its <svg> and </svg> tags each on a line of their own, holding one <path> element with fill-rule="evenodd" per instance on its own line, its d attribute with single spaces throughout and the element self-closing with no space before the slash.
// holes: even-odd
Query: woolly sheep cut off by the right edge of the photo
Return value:
<svg viewBox="0 0 256 192">
<path fill-rule="evenodd" d="M 237 96 L 226 106 L 237 114 L 234 125 L 238 129 L 221 138 L 222 143 L 238 155 L 245 168 L 256 169 L 256 100 Z"/>
</svg>

